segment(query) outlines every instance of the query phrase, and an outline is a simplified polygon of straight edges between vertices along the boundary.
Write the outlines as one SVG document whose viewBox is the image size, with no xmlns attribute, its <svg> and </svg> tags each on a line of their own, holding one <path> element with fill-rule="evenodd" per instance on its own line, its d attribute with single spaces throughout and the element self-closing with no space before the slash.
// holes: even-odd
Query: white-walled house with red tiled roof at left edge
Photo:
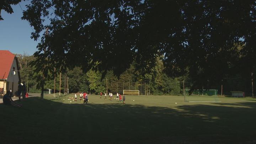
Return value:
<svg viewBox="0 0 256 144">
<path fill-rule="evenodd" d="M 17 57 L 9 50 L 0 50 L 0 95 L 7 90 L 12 90 L 13 94 L 18 90 L 20 72 L 15 70 L 19 70 Z"/>
</svg>

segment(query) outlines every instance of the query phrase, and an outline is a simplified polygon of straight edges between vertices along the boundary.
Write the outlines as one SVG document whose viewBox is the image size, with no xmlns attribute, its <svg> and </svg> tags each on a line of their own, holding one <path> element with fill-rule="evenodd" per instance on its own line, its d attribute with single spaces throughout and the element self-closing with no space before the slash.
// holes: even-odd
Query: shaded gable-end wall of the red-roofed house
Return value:
<svg viewBox="0 0 256 144">
<path fill-rule="evenodd" d="M 12 66 L 10 68 L 10 72 L 9 72 L 8 78 L 6 80 L 6 86 L 5 86 L 5 88 L 7 90 L 12 89 L 12 93 L 15 94 L 15 92 L 18 90 L 19 78 L 18 78 L 18 72 L 15 71 L 15 75 L 14 75 L 14 71 L 11 70 L 11 69 L 17 70 L 17 63 L 16 63 L 16 59 L 15 58 L 14 58 L 14 60 L 12 62 Z"/>
</svg>

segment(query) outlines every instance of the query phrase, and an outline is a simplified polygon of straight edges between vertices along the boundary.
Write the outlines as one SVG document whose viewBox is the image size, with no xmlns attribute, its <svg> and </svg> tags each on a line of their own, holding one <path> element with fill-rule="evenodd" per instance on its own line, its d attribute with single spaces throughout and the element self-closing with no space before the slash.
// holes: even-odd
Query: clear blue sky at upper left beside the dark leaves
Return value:
<svg viewBox="0 0 256 144">
<path fill-rule="evenodd" d="M 22 1 L 20 5 L 23 10 L 26 10 L 25 5 L 29 3 L 30 1 Z M 12 5 L 14 11 L 12 14 L 7 14 L 4 10 L 1 11 L 4 20 L 0 21 L 0 50 L 9 50 L 15 54 L 33 55 L 37 51 L 36 46 L 39 41 L 30 38 L 33 31 L 26 20 L 21 20 L 21 7 Z"/>
</svg>

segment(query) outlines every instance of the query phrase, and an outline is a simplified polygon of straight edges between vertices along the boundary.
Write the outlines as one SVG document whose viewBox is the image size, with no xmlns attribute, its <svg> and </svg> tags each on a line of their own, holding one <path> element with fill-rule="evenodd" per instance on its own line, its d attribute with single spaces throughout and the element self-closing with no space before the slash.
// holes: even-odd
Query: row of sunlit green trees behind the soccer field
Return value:
<svg viewBox="0 0 256 144">
<path fill-rule="evenodd" d="M 31 66 L 31 63 L 35 60 L 33 56 L 27 54 L 16 54 L 18 58 L 20 70 L 32 70 L 32 69 L 42 69 L 42 67 Z M 66 69 L 63 71 L 55 72 L 56 82 L 56 92 L 59 90 L 64 93 L 64 87 L 66 87 L 68 79 L 69 92 L 87 91 L 94 94 L 99 92 L 106 92 L 106 79 L 119 82 L 139 82 L 143 81 L 147 85 L 148 93 L 150 91 L 153 95 L 170 95 L 170 94 L 183 94 L 183 81 L 185 84 L 185 89 L 217 89 L 218 94 L 221 94 L 221 85 L 223 85 L 223 94 L 229 95 L 230 91 L 245 91 L 249 96 L 251 95 L 251 76 L 245 73 L 240 73 L 240 71 L 234 71 L 223 81 L 218 84 L 213 84 L 211 86 L 198 85 L 194 82 L 192 76 L 189 75 L 189 69 L 185 68 L 187 73 L 179 77 L 171 77 L 166 74 L 165 66 L 162 61 L 163 57 L 158 56 L 155 59 L 153 68 L 148 69 L 148 73 L 143 74 L 140 70 L 141 68 L 134 62 L 130 65 L 129 69 L 124 71 L 121 75 L 114 75 L 113 71 L 107 71 L 103 77 L 103 72 L 99 70 L 90 69 L 86 73 L 82 71 L 81 67 L 75 66 L 73 69 Z M 53 68 L 52 68 L 53 69 Z M 40 80 L 42 73 L 36 73 L 36 70 L 21 72 L 21 80 L 27 81 L 28 79 L 28 89 L 32 91 L 40 91 Z M 213 69 L 214 71 L 214 69 Z M 61 75 L 60 72 L 64 73 Z M 200 70 L 198 69 L 198 72 Z M 66 74 L 65 74 L 66 73 Z M 66 78 L 65 78 L 66 77 Z M 255 79 L 255 78 L 254 78 Z M 59 80 L 60 87 L 59 87 Z M 205 79 L 207 81 L 207 79 Z M 110 91 L 110 81 L 108 81 L 108 91 Z M 197 87 L 196 87 L 197 85 Z M 54 74 L 48 73 L 46 77 L 44 88 L 54 89 Z M 60 89 L 59 89 L 60 88 Z M 44 89 L 46 91 L 46 89 Z M 131 89 L 132 90 L 132 89 Z M 65 90 L 67 92 L 67 90 Z"/>
</svg>

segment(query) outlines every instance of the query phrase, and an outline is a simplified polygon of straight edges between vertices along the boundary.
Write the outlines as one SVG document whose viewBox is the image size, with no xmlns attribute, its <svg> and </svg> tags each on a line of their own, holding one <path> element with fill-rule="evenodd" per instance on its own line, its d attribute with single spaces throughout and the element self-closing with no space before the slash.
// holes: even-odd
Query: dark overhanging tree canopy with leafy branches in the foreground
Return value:
<svg viewBox="0 0 256 144">
<path fill-rule="evenodd" d="M 105 76 L 135 60 L 144 75 L 163 55 L 167 74 L 189 72 L 195 85 L 207 86 L 234 70 L 255 72 L 255 10 L 255 0 L 32 0 L 22 19 L 35 40 L 47 28 L 34 53 L 37 66 L 47 58 L 57 68 L 95 68 Z"/>
</svg>

